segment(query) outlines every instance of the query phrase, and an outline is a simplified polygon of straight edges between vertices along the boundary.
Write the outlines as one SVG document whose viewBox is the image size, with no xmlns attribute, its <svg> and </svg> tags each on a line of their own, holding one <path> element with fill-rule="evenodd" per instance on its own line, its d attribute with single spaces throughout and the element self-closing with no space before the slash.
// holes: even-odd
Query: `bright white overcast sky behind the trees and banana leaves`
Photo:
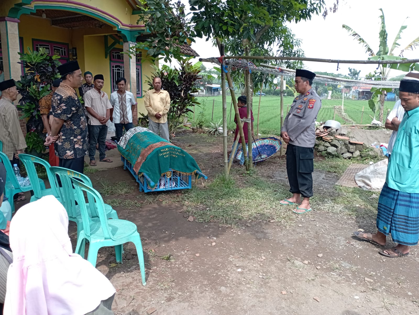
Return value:
<svg viewBox="0 0 419 315">
<path fill-rule="evenodd" d="M 187 0 L 182 2 L 187 3 Z M 326 0 L 331 4 L 333 0 Z M 407 25 L 401 34 L 401 48 L 404 48 L 413 39 L 419 36 L 419 0 L 339 0 L 339 8 L 336 13 L 329 13 L 326 20 L 322 16 L 314 16 L 311 21 L 290 23 L 289 26 L 297 38 L 302 40 L 301 48 L 306 57 L 328 58 L 328 59 L 360 59 L 366 60 L 368 55 L 358 41 L 354 40 L 349 33 L 342 28 L 342 24 L 347 24 L 357 31 L 372 49 L 378 50 L 378 33 L 380 30 L 380 10 L 383 8 L 385 25 L 388 32 L 387 43 L 393 44 L 400 26 Z M 407 18 L 410 16 L 410 18 Z M 406 20 L 407 18 L 407 20 Z M 192 44 L 201 57 L 218 57 L 219 52 L 212 46 L 211 41 L 196 39 Z M 418 47 L 419 48 L 419 47 Z M 400 48 L 396 49 L 396 55 Z M 419 49 L 405 51 L 404 57 L 413 59 L 419 57 Z M 206 63 L 207 67 L 211 65 Z M 373 72 L 375 65 L 347 65 L 339 64 L 339 71 L 336 71 L 336 64 L 321 62 L 305 62 L 305 67 L 313 72 L 334 72 L 347 74 L 348 67 L 361 70 L 361 75 Z M 390 76 L 401 74 L 392 70 Z"/>
</svg>

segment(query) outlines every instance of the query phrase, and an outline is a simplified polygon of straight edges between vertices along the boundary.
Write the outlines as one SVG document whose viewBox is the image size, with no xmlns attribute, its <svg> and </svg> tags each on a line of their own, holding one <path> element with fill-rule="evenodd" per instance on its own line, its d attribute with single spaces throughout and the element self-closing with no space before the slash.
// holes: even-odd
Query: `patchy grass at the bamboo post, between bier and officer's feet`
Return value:
<svg viewBox="0 0 419 315">
<path fill-rule="evenodd" d="M 224 225 L 244 219 L 274 219 L 289 225 L 294 221 L 290 211 L 279 201 L 286 196 L 285 188 L 255 176 L 216 176 L 205 188 L 193 188 L 184 194 L 184 205 L 199 222 L 215 221 Z"/>
</svg>

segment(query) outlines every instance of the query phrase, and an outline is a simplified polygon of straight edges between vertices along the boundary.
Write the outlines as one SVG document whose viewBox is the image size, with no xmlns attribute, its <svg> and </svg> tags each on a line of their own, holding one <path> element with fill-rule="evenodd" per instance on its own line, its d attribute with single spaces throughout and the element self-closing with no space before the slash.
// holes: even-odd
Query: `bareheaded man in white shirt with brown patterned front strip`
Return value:
<svg viewBox="0 0 419 315">
<path fill-rule="evenodd" d="M 116 80 L 118 90 L 111 94 L 110 99 L 113 107 L 111 108 L 111 121 L 115 124 L 115 136 L 117 141 L 122 137 L 122 128 L 127 132 L 133 127 L 132 116 L 135 105 L 137 105 L 137 98 L 134 97 L 134 94 L 125 90 L 126 83 L 127 80 L 123 77 Z"/>
</svg>

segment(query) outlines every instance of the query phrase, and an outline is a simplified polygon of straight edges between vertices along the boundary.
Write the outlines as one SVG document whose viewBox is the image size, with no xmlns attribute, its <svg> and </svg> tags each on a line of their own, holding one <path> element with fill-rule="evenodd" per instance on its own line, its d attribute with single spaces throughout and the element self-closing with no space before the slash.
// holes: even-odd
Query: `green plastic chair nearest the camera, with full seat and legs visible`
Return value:
<svg viewBox="0 0 419 315">
<path fill-rule="evenodd" d="M 137 225 L 121 219 L 108 220 L 106 218 L 103 199 L 101 195 L 93 188 L 81 183 L 76 179 L 72 179 L 75 188 L 76 199 L 83 200 L 84 192 L 93 196 L 95 203 L 91 207 L 96 207 L 100 222 L 93 220 L 89 216 L 86 204 L 80 203 L 81 216 L 83 219 L 83 230 L 80 231 L 80 237 L 77 240 L 75 253 L 84 256 L 84 245 L 86 240 L 89 241 L 89 251 L 87 260 L 96 267 L 96 259 L 99 248 L 105 246 L 115 246 L 116 262 L 122 263 L 122 246 L 124 243 L 132 242 L 137 250 L 137 256 L 140 263 L 142 285 L 145 281 L 144 256 L 142 254 L 142 245 L 140 234 L 137 231 Z"/>
</svg>

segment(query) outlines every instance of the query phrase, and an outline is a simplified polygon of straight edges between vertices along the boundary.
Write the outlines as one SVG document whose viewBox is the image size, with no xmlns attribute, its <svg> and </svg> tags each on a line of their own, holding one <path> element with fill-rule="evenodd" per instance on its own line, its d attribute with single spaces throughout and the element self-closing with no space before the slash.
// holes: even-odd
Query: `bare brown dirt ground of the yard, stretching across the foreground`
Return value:
<svg viewBox="0 0 419 315">
<path fill-rule="evenodd" d="M 197 160 L 207 182 L 222 173 L 221 137 L 184 133 L 174 143 Z M 258 172 L 272 185 L 287 186 L 284 158 L 270 158 Z M 351 237 L 360 228 L 375 231 L 375 213 L 344 216 L 313 201 L 314 211 L 294 214 L 290 225 L 257 219 L 230 226 L 189 222 L 182 204 L 186 191 L 141 193 L 122 167 L 89 176 L 97 189 L 103 189 L 104 181 L 105 186 L 128 183 L 123 197 L 110 191 L 104 199 L 119 200 L 122 206 L 114 206 L 119 218 L 134 222 L 142 238 L 145 287 L 132 244 L 124 246 L 121 265 L 112 248 L 98 254 L 97 268 L 117 291 L 117 315 L 419 314 L 416 247 L 406 258 L 385 258 L 378 247 Z M 318 198 L 337 194 L 334 173 L 316 170 L 314 179 Z M 206 183 L 193 185 L 204 189 Z M 73 223 L 69 232 L 74 245 Z M 160 258 L 168 253 L 173 261 Z"/>
</svg>

